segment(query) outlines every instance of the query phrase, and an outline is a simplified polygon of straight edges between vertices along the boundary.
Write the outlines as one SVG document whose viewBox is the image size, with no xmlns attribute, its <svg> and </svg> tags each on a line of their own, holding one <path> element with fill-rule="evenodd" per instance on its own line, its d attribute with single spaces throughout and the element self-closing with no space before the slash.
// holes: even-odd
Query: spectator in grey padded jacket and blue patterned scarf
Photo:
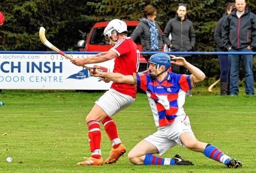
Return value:
<svg viewBox="0 0 256 173">
<path fill-rule="evenodd" d="M 155 22 L 157 10 L 154 6 L 147 5 L 144 7 L 144 17 L 139 20 L 138 26 L 131 33 L 131 39 L 134 41 L 137 37 L 141 37 L 142 51 L 161 51 L 163 48 L 162 33 L 158 24 Z M 151 54 L 145 54 L 148 60 Z"/>
</svg>

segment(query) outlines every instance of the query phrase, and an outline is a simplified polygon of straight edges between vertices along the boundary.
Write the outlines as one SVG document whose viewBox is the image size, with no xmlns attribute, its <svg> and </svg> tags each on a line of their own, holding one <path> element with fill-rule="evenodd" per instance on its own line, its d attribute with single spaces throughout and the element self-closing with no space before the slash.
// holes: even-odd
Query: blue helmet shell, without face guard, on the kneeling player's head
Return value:
<svg viewBox="0 0 256 173">
<path fill-rule="evenodd" d="M 149 58 L 147 67 L 150 63 L 155 64 L 156 69 L 164 65 L 166 67 L 165 71 L 167 71 L 171 67 L 171 57 L 166 53 L 156 53 Z"/>
</svg>

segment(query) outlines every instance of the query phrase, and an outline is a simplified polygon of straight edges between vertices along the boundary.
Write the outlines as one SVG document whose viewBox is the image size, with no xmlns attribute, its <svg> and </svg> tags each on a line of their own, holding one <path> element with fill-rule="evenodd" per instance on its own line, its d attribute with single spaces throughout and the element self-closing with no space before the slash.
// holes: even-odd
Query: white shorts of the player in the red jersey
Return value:
<svg viewBox="0 0 256 173">
<path fill-rule="evenodd" d="M 134 98 L 130 95 L 122 94 L 110 88 L 106 91 L 100 99 L 96 100 L 95 104 L 101 107 L 108 116 L 115 115 L 115 113 L 127 108 L 134 102 Z"/>
</svg>

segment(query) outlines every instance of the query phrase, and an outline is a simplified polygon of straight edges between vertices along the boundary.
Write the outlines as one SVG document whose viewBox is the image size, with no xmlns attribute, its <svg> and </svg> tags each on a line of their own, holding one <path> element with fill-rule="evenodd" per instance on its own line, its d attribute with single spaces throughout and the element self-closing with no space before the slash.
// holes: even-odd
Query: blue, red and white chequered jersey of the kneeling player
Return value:
<svg viewBox="0 0 256 173">
<path fill-rule="evenodd" d="M 191 90 L 190 75 L 168 72 L 159 82 L 147 73 L 137 74 L 137 86 L 146 91 L 156 126 L 166 126 L 175 117 L 185 115 L 185 92 Z"/>
</svg>

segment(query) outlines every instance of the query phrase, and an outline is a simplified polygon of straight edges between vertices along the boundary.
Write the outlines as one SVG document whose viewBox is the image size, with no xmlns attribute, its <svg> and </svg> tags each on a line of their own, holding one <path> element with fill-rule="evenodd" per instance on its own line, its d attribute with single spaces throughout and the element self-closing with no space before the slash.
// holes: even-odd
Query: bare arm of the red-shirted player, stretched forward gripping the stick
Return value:
<svg viewBox="0 0 256 173">
<path fill-rule="evenodd" d="M 114 50 L 110 49 L 108 52 L 98 53 L 94 56 L 90 56 L 87 58 L 72 58 L 71 62 L 77 66 L 82 66 L 85 64 L 94 64 L 105 62 L 108 60 L 112 60 L 113 58 L 117 57 L 118 54 L 114 52 Z"/>
</svg>

